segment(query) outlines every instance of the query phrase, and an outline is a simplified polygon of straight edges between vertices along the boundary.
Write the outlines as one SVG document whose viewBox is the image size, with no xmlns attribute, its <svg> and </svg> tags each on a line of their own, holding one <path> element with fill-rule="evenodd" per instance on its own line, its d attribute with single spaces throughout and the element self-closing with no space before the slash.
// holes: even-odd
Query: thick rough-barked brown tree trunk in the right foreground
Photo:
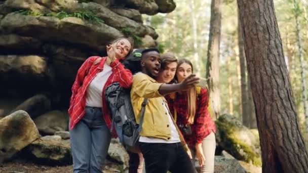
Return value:
<svg viewBox="0 0 308 173">
<path fill-rule="evenodd" d="M 238 0 L 245 55 L 256 107 L 262 171 L 306 172 L 308 154 L 272 0 Z"/>
</svg>

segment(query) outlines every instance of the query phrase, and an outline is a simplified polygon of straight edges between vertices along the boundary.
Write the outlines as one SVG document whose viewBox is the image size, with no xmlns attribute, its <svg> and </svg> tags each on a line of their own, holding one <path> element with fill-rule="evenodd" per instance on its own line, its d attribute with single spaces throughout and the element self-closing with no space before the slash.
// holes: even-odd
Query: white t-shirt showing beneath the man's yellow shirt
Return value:
<svg viewBox="0 0 308 173">
<path fill-rule="evenodd" d="M 165 139 L 161 139 L 161 138 L 154 138 L 154 137 L 143 137 L 143 136 L 140 136 L 139 138 L 139 142 L 144 142 L 144 143 L 178 143 L 180 142 L 180 137 L 179 137 L 179 134 L 176 130 L 176 127 L 173 123 L 173 120 L 171 118 L 171 115 L 169 113 L 169 109 L 168 109 L 168 105 L 165 104 L 165 102 L 163 101 L 162 99 L 162 102 L 163 102 L 163 105 L 164 105 L 164 108 L 165 108 L 165 111 L 167 113 L 166 116 L 168 116 L 168 119 L 169 119 L 169 124 L 170 124 L 170 129 L 171 129 L 171 138 L 170 140 L 165 140 Z"/>
</svg>

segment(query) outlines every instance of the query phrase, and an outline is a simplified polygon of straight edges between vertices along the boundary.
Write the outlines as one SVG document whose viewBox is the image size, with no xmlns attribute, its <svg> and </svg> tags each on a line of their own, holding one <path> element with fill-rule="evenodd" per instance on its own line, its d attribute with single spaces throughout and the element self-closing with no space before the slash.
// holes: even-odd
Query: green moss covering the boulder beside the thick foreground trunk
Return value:
<svg viewBox="0 0 308 173">
<path fill-rule="evenodd" d="M 235 158 L 260 166 L 262 163 L 260 155 L 237 138 L 237 132 L 241 130 L 238 127 L 239 122 L 228 118 L 227 116 L 220 116 L 216 121 L 216 125 L 219 127 L 220 138 L 225 145 L 223 147 Z"/>
</svg>

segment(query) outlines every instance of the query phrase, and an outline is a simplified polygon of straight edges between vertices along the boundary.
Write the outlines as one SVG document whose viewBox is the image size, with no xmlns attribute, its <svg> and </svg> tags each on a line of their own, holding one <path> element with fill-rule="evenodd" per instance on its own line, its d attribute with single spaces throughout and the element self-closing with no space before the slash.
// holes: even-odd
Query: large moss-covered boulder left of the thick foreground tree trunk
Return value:
<svg viewBox="0 0 308 173">
<path fill-rule="evenodd" d="M 216 120 L 217 142 L 238 160 L 261 165 L 259 139 L 235 116 L 224 114 Z"/>
</svg>

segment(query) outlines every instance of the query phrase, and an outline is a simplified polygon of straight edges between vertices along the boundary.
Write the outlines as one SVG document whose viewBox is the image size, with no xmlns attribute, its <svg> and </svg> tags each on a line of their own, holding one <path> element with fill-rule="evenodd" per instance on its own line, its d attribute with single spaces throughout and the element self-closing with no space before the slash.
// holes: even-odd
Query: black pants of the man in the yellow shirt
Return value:
<svg viewBox="0 0 308 173">
<path fill-rule="evenodd" d="M 193 163 L 181 143 L 142 143 L 140 149 L 146 173 L 195 173 Z"/>
</svg>

